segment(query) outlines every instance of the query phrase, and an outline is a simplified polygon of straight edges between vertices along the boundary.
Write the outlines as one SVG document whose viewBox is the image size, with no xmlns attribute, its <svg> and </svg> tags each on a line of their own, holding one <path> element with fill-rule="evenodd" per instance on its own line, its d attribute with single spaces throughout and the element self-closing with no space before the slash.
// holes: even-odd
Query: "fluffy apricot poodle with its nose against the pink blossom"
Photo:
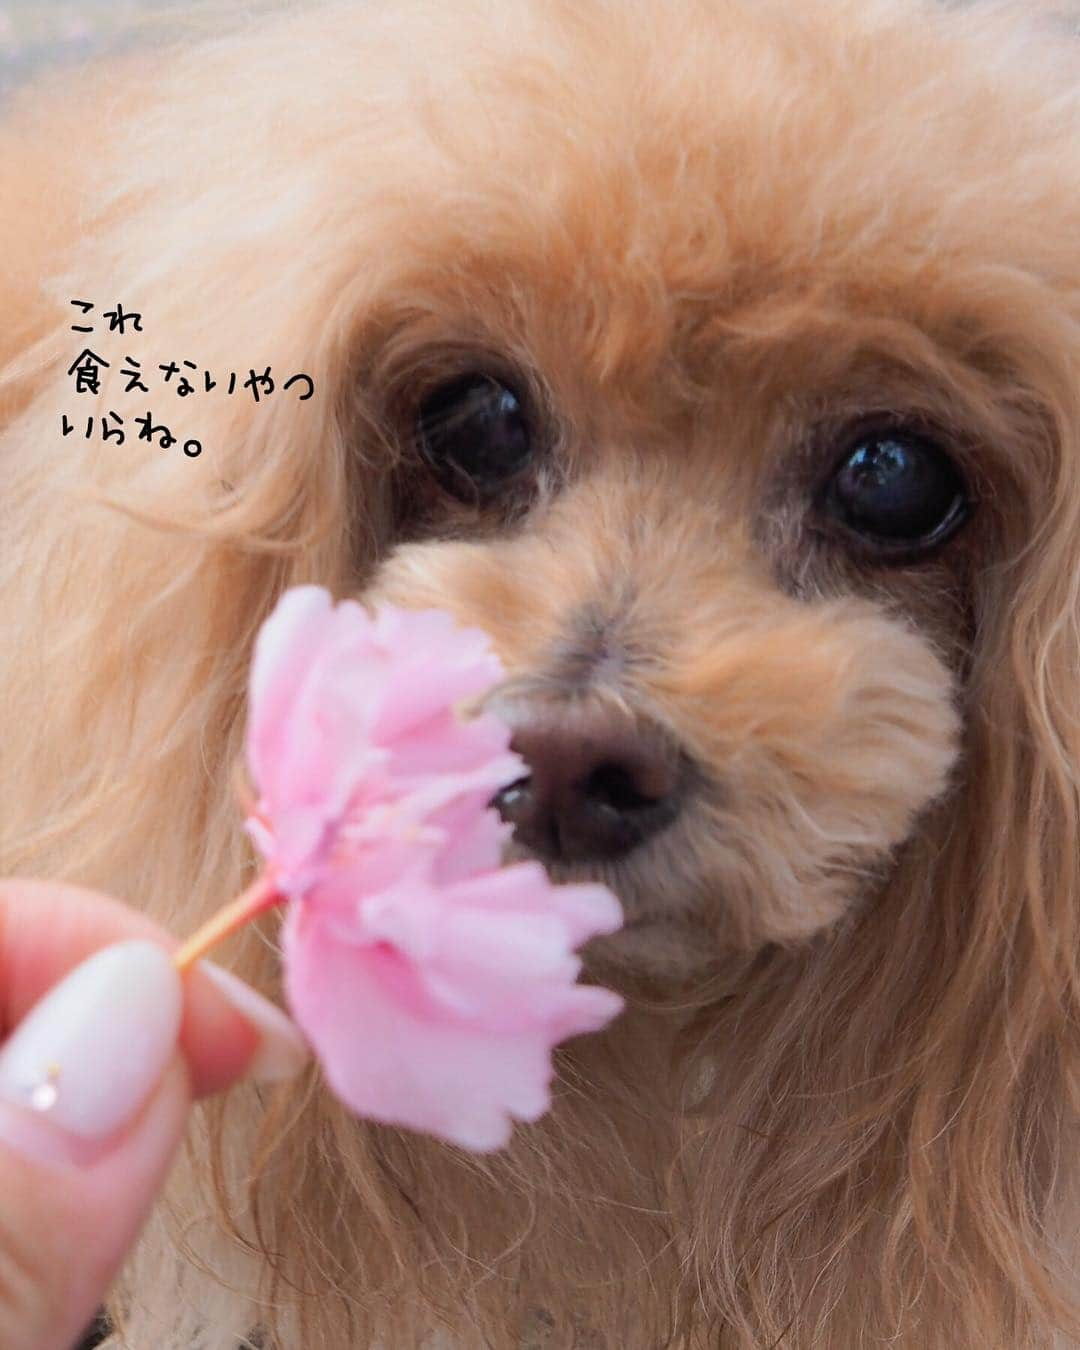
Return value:
<svg viewBox="0 0 1080 1350">
<path fill-rule="evenodd" d="M 505 1153 L 204 1108 L 116 1345 L 1080 1343 L 1075 19 L 331 4 L 12 100 L 4 869 L 236 894 L 319 582 L 491 634 L 510 856 L 625 910 Z"/>
</svg>

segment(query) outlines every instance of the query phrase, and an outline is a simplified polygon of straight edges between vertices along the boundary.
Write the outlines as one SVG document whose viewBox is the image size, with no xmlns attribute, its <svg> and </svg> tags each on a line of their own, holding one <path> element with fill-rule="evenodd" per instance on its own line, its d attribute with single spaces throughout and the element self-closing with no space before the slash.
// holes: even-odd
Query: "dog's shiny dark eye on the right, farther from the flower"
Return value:
<svg viewBox="0 0 1080 1350">
<path fill-rule="evenodd" d="M 861 436 L 833 471 L 822 506 L 845 531 L 884 552 L 940 544 L 971 510 L 952 459 L 909 431 Z"/>
</svg>

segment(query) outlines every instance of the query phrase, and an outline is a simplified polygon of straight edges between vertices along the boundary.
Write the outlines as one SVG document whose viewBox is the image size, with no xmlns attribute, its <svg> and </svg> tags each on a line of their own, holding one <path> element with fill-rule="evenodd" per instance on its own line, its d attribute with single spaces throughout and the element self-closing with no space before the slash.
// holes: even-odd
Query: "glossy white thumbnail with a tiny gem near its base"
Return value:
<svg viewBox="0 0 1080 1350">
<path fill-rule="evenodd" d="M 0 1100 L 78 1139 L 107 1139 L 138 1114 L 173 1057 L 182 1003 L 165 948 L 103 948 L 0 1048 Z"/>
</svg>

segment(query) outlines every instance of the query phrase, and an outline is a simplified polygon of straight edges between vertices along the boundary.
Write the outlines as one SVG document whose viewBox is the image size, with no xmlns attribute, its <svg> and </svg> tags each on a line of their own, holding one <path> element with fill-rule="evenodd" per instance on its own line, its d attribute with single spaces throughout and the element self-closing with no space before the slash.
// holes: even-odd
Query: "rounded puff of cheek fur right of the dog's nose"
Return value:
<svg viewBox="0 0 1080 1350">
<path fill-rule="evenodd" d="M 721 725 L 699 737 L 722 787 L 701 865 L 721 946 L 798 942 L 872 899 L 946 787 L 959 740 L 948 672 L 914 633 L 844 608 L 780 625 L 764 652 L 751 640 L 737 675 L 713 686 Z"/>
</svg>

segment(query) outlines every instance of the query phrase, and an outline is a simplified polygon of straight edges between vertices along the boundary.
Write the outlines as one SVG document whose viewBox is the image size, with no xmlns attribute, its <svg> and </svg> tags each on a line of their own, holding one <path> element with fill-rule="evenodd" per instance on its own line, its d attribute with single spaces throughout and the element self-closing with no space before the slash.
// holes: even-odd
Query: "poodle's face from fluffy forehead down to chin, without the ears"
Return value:
<svg viewBox="0 0 1080 1350">
<path fill-rule="evenodd" d="M 937 846 L 980 578 L 1048 440 L 1030 213 L 971 53 L 917 76 L 925 32 L 872 7 L 798 20 L 798 54 L 745 20 L 680 20 L 679 78 L 624 32 L 618 61 L 482 70 L 498 128 L 456 108 L 409 300 L 360 335 L 414 540 L 374 594 L 493 634 L 531 767 L 512 852 L 608 882 L 603 954 L 674 975 Z"/>
</svg>

